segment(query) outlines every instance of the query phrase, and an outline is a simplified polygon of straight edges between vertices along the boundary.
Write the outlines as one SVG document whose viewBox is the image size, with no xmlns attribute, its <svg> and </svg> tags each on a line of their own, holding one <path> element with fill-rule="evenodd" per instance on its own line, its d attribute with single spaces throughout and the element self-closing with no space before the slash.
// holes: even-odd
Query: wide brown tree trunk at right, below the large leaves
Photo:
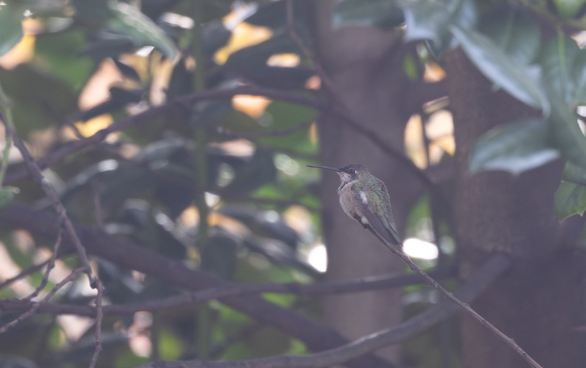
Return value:
<svg viewBox="0 0 586 368">
<path fill-rule="evenodd" d="M 564 248 L 553 196 L 563 162 L 515 177 L 505 172 L 467 172 L 473 143 L 515 118 L 539 115 L 492 85 L 461 50 L 447 54 L 449 98 L 456 140 L 455 235 L 459 273 L 471 275 L 486 255 L 509 254 L 513 270 L 472 307 L 543 367 L 584 367 L 585 263 L 581 251 Z M 528 366 L 477 321 L 462 321 L 464 366 Z"/>
</svg>

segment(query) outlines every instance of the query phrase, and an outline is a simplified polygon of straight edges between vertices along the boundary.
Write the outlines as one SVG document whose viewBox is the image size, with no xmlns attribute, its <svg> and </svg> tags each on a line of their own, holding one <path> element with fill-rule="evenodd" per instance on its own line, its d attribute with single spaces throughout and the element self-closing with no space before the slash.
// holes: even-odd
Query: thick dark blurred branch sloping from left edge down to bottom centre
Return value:
<svg viewBox="0 0 586 368">
<path fill-rule="evenodd" d="M 39 212 L 17 203 L 11 203 L 4 208 L 0 214 L 0 223 L 4 226 L 27 229 L 33 234 L 50 238 L 56 237 L 58 229 L 57 217 L 54 214 Z M 192 270 L 180 261 L 170 260 L 131 241 L 106 234 L 96 227 L 78 225 L 76 230 L 88 254 L 110 260 L 120 267 L 137 270 L 158 277 L 163 282 L 193 291 L 233 285 L 206 272 Z M 68 246 L 71 247 L 69 239 L 64 239 L 63 248 Z M 331 349 L 348 342 L 335 330 L 255 295 L 236 295 L 219 300 L 260 323 L 274 326 L 294 336 L 312 351 Z M 360 368 L 388 368 L 390 363 L 374 355 L 367 355 L 347 365 Z"/>
</svg>

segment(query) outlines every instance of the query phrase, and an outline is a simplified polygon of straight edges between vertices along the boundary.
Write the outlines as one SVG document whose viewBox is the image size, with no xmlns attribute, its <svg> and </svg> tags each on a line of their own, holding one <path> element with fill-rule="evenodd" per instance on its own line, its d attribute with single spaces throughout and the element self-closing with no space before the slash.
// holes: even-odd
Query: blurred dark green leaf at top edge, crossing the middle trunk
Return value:
<svg viewBox="0 0 586 368">
<path fill-rule="evenodd" d="M 333 14 L 333 27 L 347 25 L 392 28 L 404 22 L 403 11 L 389 0 L 343 0 Z"/>
</svg>

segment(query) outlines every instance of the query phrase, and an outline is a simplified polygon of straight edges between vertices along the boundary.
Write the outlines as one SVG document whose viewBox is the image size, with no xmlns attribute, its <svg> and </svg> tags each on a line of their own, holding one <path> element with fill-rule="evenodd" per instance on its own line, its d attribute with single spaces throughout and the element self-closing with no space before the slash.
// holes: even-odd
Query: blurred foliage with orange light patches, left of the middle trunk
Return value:
<svg viewBox="0 0 586 368">
<path fill-rule="evenodd" d="M 39 147 L 37 155 L 50 155 L 79 139 L 79 135 L 93 134 L 105 127 L 104 121 L 107 125 L 108 121 L 191 93 L 195 67 L 192 54 L 197 48 L 205 57 L 197 63 L 208 71 L 209 90 L 246 80 L 311 95 L 304 91 L 305 80 L 314 74 L 311 69 L 267 65 L 267 59 L 275 53 L 299 55 L 282 32 L 264 43 L 240 46 L 225 64 L 216 64 L 214 54 L 230 41 L 231 28 L 239 24 L 222 20 L 232 11 L 231 1 L 202 2 L 199 9 L 203 13 L 197 17 L 188 2 L 179 1 L 143 1 L 141 8 L 127 2 L 86 0 L 6 4 L 0 5 L 3 60 L 19 57 L 9 51 L 23 34 L 30 35 L 34 42 L 30 46 L 32 56 L 15 67 L 2 64 L 0 82 L 11 99 L 18 133 Z M 271 12 L 267 8 L 265 16 Z M 254 12 L 243 4 L 233 17 L 244 19 L 251 13 L 259 16 L 263 11 Z M 26 22 L 21 26 L 23 19 Z M 194 19 L 203 23 L 194 25 Z M 202 30 L 200 39 L 193 38 L 194 26 Z M 311 228 L 293 230 L 282 215 L 305 195 L 308 180 L 295 176 L 291 168 L 287 172 L 277 168 L 274 161 L 275 155 L 286 152 L 298 170 L 300 164 L 315 156 L 317 146 L 308 122 L 316 113 L 279 101 L 268 101 L 268 108 L 263 108 L 260 115 L 248 112 L 246 106 L 238 110 L 235 106 L 230 98 L 203 101 L 196 106 L 195 119 L 190 118 L 190 109 L 179 106 L 111 135 L 104 144 L 74 152 L 53 165 L 47 179 L 59 190 L 71 219 L 98 224 L 110 234 L 185 260 L 226 280 L 289 282 L 319 278 L 319 272 L 303 255 L 316 238 L 305 234 L 302 240 L 298 233 L 311 234 Z M 206 188 L 199 188 L 195 176 L 199 152 L 192 125 L 195 121 L 204 124 L 208 137 L 203 151 Z M 284 128 L 291 131 L 263 138 Z M 250 134 L 255 138 L 244 138 Z M 23 167 L 22 162 L 14 163 L 8 175 Z M 40 208 L 50 206 L 29 180 L 15 186 L 21 190 L 17 200 Z M 0 190 L 0 204 L 15 196 L 14 189 Z M 202 191 L 209 197 L 212 210 L 207 219 L 211 231 L 203 243 L 197 236 L 199 211 L 193 206 L 196 193 Z M 272 202 L 275 199 L 278 201 Z M 315 197 L 311 201 L 315 209 Z M 315 217 L 313 220 L 309 219 L 309 224 L 315 226 Z M 36 263 L 38 251 L 32 244 L 21 244 L 22 234 L 15 235 L 5 234 L 2 244 L 13 263 L 25 270 Z M 43 251 L 43 247 L 52 247 L 41 239 L 30 241 Z M 104 282 L 104 297 L 113 304 L 179 292 L 148 276 L 137 278 L 131 270 L 110 261 L 94 261 Z M 57 264 L 64 269 L 72 266 L 61 261 Z M 42 273 L 34 272 L 26 281 L 38 285 L 41 279 Z M 87 303 L 91 297 L 81 291 L 82 284 L 74 283 L 54 301 Z M 54 285 L 51 279 L 45 289 Z M 13 288 L 1 292 L 3 297 L 18 295 Z M 290 295 L 271 295 L 270 299 L 284 306 L 297 301 Z M 152 324 L 138 330 L 147 354 L 179 359 L 207 352 L 217 359 L 242 359 L 305 352 L 299 342 L 274 329 L 256 326 L 247 316 L 219 304 L 210 308 L 205 314 L 209 321 L 203 324 L 197 323 L 197 316 L 202 314 L 199 306 L 152 316 Z M 0 316 L 8 322 L 16 314 L 3 312 Z M 1 366 L 87 366 L 93 352 L 91 329 L 81 337 L 70 336 L 62 323 L 39 315 L 0 336 L 0 355 L 13 356 L 6 357 Z M 137 329 L 138 325 L 132 316 L 105 318 L 104 352 L 98 367 L 131 367 L 146 361 L 139 356 L 145 347 L 131 349 L 132 344 L 124 338 L 126 330 Z M 206 333 L 212 339 L 199 340 L 206 335 L 201 329 L 208 329 Z M 43 340 L 45 343 L 38 344 Z M 83 345 L 84 341 L 88 345 Z M 202 344 L 207 347 L 198 347 Z M 17 345 L 19 349 L 14 348 Z"/>
</svg>

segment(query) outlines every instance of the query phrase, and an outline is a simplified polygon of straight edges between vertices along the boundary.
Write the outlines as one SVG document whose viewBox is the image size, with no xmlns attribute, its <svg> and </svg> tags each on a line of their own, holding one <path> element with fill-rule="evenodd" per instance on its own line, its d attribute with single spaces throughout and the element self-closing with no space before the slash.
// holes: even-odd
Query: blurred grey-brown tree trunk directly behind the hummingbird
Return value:
<svg viewBox="0 0 586 368">
<path fill-rule="evenodd" d="M 332 1 L 316 3 L 315 49 L 324 66 L 328 81 L 325 93 L 330 111 L 349 110 L 352 119 L 380 134 L 387 144 L 403 150 L 406 116 L 399 106 L 404 95 L 406 77 L 402 57 L 397 52 L 391 33 L 363 27 L 331 29 Z M 373 145 L 372 141 L 340 118 L 339 114 L 322 116 L 319 126 L 321 162 L 340 167 L 360 163 L 383 180 L 391 196 L 391 204 L 399 229 L 403 229 L 407 209 L 414 193 L 413 186 L 405 195 L 405 183 L 413 178 L 397 162 Z M 346 216 L 340 208 L 336 189 L 338 175 L 323 172 L 323 234 L 328 248 L 328 280 L 347 280 L 367 275 L 388 274 L 404 270 L 403 264 L 376 237 Z M 416 182 L 416 181 L 415 181 Z M 400 193 L 400 194 L 399 194 Z M 326 320 L 350 339 L 397 325 L 401 321 L 401 291 L 362 292 L 328 297 Z M 397 361 L 398 349 L 380 351 Z"/>
</svg>

